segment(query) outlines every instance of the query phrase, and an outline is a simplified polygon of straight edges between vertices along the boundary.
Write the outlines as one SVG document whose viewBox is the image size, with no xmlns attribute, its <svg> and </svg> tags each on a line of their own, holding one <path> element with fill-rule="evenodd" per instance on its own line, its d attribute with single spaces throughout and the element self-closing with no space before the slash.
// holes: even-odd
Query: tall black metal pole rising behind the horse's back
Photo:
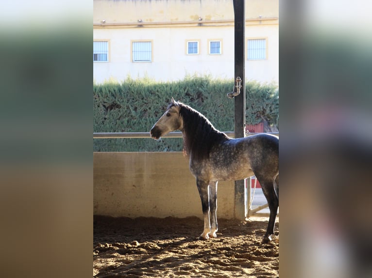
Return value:
<svg viewBox="0 0 372 278">
<path fill-rule="evenodd" d="M 235 96 L 235 138 L 245 137 L 245 0 L 233 0 L 235 16 L 234 80 L 241 78 L 240 94 Z M 237 91 L 237 88 L 235 88 Z M 235 182 L 235 217 L 245 220 L 245 180 Z"/>
</svg>

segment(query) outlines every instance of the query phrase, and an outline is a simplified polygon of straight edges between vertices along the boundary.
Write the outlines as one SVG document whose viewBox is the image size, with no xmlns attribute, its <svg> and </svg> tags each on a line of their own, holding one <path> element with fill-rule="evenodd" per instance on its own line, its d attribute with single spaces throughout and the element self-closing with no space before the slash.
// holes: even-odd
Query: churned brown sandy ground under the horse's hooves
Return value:
<svg viewBox="0 0 372 278">
<path fill-rule="evenodd" d="M 94 216 L 93 276 L 279 277 L 279 244 L 261 244 L 265 219 L 219 219 L 218 237 L 202 241 L 197 217 Z"/>
</svg>

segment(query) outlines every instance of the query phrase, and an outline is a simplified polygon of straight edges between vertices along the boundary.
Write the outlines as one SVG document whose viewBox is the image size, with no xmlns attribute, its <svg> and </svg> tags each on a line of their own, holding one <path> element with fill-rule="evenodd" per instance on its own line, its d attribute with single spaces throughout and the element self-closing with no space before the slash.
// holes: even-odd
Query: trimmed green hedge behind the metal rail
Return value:
<svg viewBox="0 0 372 278">
<path fill-rule="evenodd" d="M 173 82 L 155 82 L 150 78 L 122 83 L 93 84 L 94 132 L 148 132 L 164 113 L 170 98 L 200 111 L 221 131 L 234 130 L 234 100 L 226 93 L 233 80 L 209 76 L 188 76 Z M 246 122 L 262 120 L 277 125 L 278 88 L 274 84 L 246 83 Z M 182 138 L 94 139 L 95 152 L 182 151 Z"/>
</svg>

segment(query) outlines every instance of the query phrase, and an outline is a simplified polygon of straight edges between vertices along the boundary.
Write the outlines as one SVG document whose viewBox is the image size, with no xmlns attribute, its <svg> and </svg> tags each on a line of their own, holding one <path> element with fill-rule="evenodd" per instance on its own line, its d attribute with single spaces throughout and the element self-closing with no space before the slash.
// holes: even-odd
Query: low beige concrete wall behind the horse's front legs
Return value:
<svg viewBox="0 0 372 278">
<path fill-rule="evenodd" d="M 93 153 L 93 213 L 203 217 L 195 178 L 182 153 Z M 219 218 L 234 218 L 234 182 L 220 182 Z"/>
</svg>

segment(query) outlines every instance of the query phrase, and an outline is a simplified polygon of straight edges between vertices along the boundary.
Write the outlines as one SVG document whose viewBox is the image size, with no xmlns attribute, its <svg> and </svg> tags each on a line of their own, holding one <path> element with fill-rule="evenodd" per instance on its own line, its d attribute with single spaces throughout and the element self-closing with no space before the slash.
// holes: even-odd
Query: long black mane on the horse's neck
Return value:
<svg viewBox="0 0 372 278">
<path fill-rule="evenodd" d="M 218 131 L 203 114 L 183 103 L 180 115 L 184 120 L 184 150 L 187 155 L 192 153 L 192 159 L 209 158 L 209 152 L 214 144 L 229 139 L 226 134 Z"/>
</svg>

